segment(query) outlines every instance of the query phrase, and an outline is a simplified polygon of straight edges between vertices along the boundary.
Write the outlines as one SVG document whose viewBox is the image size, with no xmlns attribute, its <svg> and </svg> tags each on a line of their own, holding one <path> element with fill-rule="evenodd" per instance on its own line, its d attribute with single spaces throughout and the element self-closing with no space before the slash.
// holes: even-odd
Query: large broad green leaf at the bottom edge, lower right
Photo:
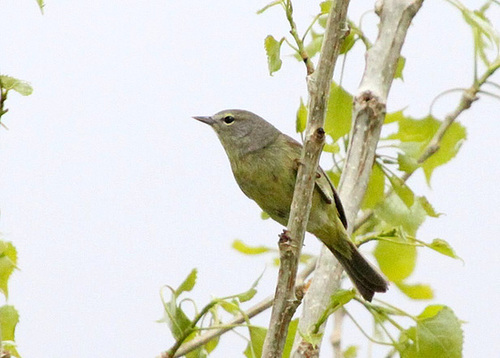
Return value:
<svg viewBox="0 0 500 358">
<path fill-rule="evenodd" d="M 431 305 L 417 317 L 416 326 L 402 332 L 405 344 L 398 346 L 402 358 L 461 358 L 463 332 L 453 311 Z"/>
</svg>

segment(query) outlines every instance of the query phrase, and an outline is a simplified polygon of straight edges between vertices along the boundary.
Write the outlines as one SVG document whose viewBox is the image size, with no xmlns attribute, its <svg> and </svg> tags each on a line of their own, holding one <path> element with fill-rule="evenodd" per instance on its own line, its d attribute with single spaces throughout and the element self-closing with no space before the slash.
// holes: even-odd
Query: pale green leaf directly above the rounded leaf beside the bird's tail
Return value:
<svg viewBox="0 0 500 358">
<path fill-rule="evenodd" d="M 374 212 L 376 217 L 383 220 L 388 227 L 401 226 L 407 234 L 412 236 L 415 236 L 427 216 L 419 200 L 415 200 L 412 207 L 408 208 L 395 194 L 377 205 Z"/>
</svg>

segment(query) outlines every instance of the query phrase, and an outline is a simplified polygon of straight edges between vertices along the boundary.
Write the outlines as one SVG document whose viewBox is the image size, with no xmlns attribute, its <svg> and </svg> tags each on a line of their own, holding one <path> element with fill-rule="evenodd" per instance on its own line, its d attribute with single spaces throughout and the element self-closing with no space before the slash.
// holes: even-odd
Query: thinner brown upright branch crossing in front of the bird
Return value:
<svg viewBox="0 0 500 358">
<path fill-rule="evenodd" d="M 326 104 L 340 43 L 345 35 L 348 4 L 349 0 L 338 0 L 332 5 L 318 68 L 307 78 L 309 117 L 306 127 L 306 141 L 297 173 L 288 230 L 280 236 L 280 271 L 271 322 L 262 351 L 262 357 L 265 358 L 281 357 L 288 325 L 300 303 L 294 292 L 295 277 L 311 210 L 319 157 L 325 140 L 323 124 Z"/>
</svg>

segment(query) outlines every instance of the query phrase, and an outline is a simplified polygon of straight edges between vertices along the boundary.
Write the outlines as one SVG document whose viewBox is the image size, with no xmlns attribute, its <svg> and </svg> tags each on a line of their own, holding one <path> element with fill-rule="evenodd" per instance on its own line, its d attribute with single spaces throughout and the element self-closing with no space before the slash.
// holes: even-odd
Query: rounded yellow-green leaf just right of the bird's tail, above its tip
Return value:
<svg viewBox="0 0 500 358">
<path fill-rule="evenodd" d="M 411 275 L 417 260 L 417 248 L 395 236 L 393 241 L 378 241 L 373 252 L 378 265 L 387 278 L 401 282 Z"/>
</svg>

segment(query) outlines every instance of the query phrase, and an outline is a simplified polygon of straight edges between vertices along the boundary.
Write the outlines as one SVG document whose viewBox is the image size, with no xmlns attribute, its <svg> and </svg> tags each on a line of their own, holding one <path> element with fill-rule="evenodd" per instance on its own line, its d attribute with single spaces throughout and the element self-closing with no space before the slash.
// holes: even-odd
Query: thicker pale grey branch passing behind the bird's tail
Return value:
<svg viewBox="0 0 500 358">
<path fill-rule="evenodd" d="M 375 149 L 385 117 L 387 94 L 408 31 L 423 0 L 382 0 L 377 2 L 379 34 L 366 55 L 366 67 L 354 99 L 353 128 L 342 173 L 339 194 L 349 223 L 353 223 L 368 185 Z M 325 49 L 323 49 L 325 50 Z M 352 228 L 352 225 L 350 225 Z M 330 296 L 340 286 L 332 277 L 340 265 L 323 247 L 311 286 L 304 298 L 298 333 L 307 334 L 324 312 Z M 323 327 L 324 330 L 324 327 Z M 297 334 L 292 357 L 317 357 L 319 347 Z"/>
</svg>

